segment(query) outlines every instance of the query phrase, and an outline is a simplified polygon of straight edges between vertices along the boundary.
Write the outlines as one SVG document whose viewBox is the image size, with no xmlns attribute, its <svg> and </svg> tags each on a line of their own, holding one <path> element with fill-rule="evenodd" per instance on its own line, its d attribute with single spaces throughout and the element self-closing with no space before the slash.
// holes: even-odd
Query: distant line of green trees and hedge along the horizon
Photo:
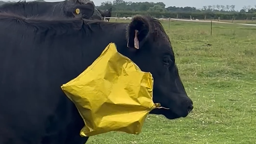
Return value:
<svg viewBox="0 0 256 144">
<path fill-rule="evenodd" d="M 44 0 L 36 0 L 44 1 Z M 10 1 L 9 1 L 10 2 Z M 6 3 L 0 1 L 0 5 Z M 152 15 L 156 18 L 198 18 L 198 19 L 251 19 L 256 17 L 256 5 L 244 6 L 241 10 L 236 11 L 235 5 L 213 5 L 203 6 L 201 9 L 195 7 L 176 7 L 169 6 L 163 2 L 126 2 L 123 0 L 105 1 L 97 9 L 105 10 L 112 8 L 112 16 L 131 17 L 136 14 Z"/>
</svg>

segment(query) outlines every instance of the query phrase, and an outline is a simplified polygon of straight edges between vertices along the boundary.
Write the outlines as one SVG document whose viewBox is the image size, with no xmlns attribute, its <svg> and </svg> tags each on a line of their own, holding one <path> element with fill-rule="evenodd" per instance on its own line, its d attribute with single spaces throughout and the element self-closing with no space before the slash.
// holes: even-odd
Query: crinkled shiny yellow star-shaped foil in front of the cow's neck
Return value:
<svg viewBox="0 0 256 144">
<path fill-rule="evenodd" d="M 142 72 L 110 43 L 77 78 L 61 86 L 75 103 L 85 126 L 81 136 L 110 131 L 139 134 L 154 104 L 153 77 Z"/>
</svg>

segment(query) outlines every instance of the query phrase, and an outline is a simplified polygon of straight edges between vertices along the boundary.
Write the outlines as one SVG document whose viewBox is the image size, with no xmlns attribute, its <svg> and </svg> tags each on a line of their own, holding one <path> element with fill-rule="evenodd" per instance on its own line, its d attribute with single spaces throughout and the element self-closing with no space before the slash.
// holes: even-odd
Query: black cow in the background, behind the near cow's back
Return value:
<svg viewBox="0 0 256 144">
<path fill-rule="evenodd" d="M 65 0 L 61 2 L 39 2 L 39 1 L 19 1 L 12 3 L 5 3 L 0 6 L 0 12 L 12 12 L 14 14 L 29 16 L 64 16 L 74 17 L 78 14 L 76 9 L 80 9 L 79 15 L 89 19 L 87 16 L 87 4 L 94 3 L 90 0 Z M 103 20 L 101 14 L 94 8 L 92 20 Z"/>
</svg>

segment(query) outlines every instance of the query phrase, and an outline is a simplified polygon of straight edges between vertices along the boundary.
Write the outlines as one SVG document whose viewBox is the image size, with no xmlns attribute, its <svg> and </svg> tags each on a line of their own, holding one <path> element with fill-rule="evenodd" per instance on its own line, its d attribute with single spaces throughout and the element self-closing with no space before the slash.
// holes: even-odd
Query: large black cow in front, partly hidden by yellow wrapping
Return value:
<svg viewBox="0 0 256 144">
<path fill-rule="evenodd" d="M 110 42 L 152 73 L 153 100 L 169 109 L 151 114 L 175 119 L 190 113 L 193 102 L 160 21 L 139 15 L 130 23 L 111 23 L 0 13 L 0 144 L 84 144 L 83 119 L 60 86 L 90 66 Z"/>
</svg>

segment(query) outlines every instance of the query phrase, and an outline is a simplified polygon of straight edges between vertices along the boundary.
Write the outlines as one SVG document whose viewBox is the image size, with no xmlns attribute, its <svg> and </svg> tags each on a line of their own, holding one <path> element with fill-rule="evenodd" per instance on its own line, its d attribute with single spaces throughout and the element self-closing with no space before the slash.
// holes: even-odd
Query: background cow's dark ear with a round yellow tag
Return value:
<svg viewBox="0 0 256 144">
<path fill-rule="evenodd" d="M 89 19 L 93 16 L 95 6 L 93 3 L 75 5 L 72 9 L 73 15 L 82 15 L 83 18 Z"/>
</svg>

